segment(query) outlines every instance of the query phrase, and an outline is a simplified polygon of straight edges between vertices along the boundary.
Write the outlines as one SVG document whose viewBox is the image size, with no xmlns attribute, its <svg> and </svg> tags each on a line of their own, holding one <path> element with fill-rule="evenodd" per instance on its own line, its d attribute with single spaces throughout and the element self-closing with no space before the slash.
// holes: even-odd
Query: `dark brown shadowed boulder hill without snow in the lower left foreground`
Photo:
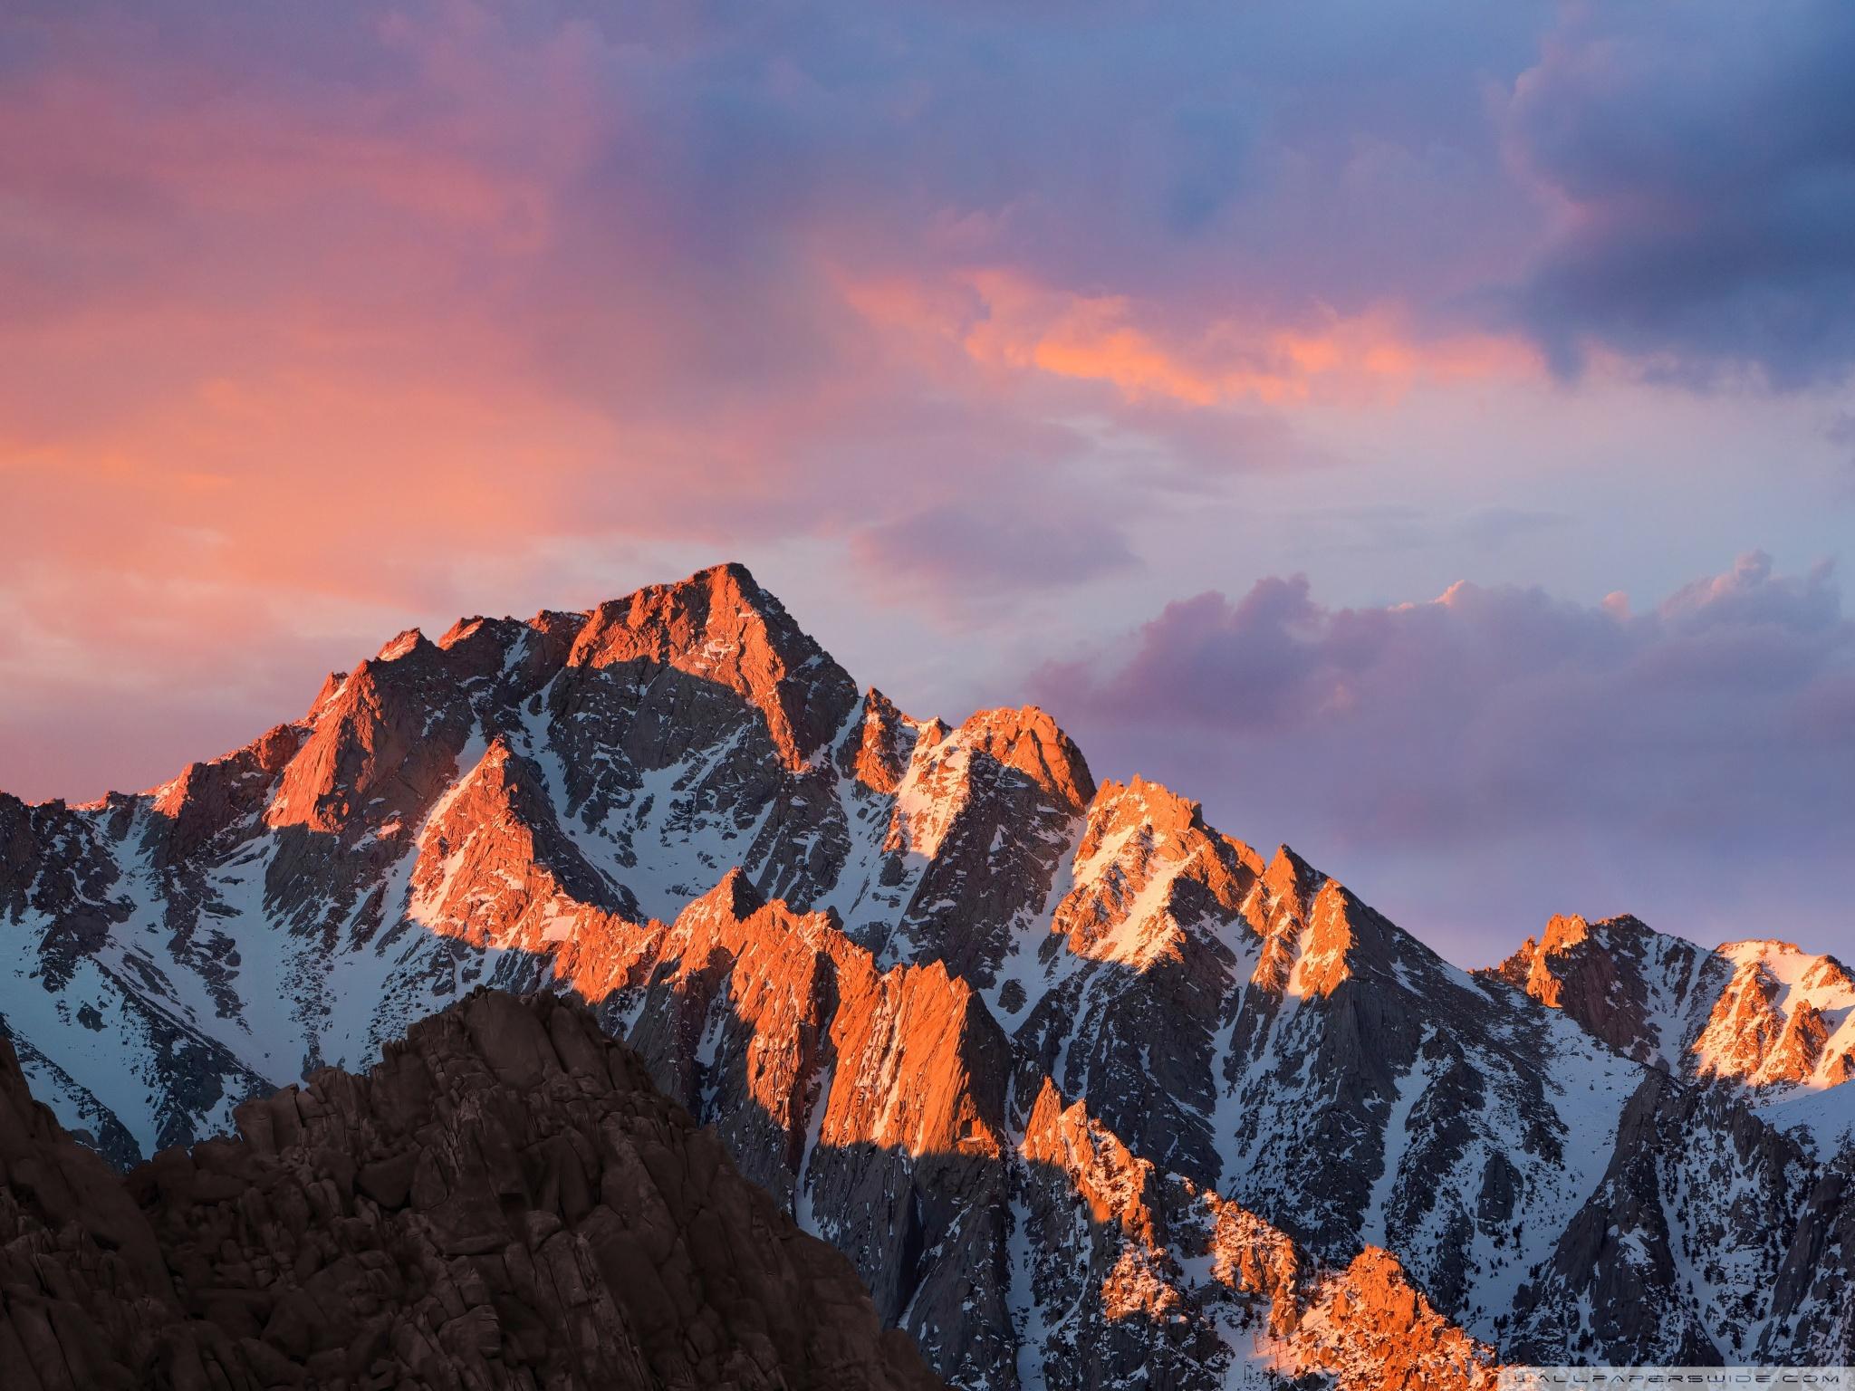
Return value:
<svg viewBox="0 0 1855 1391">
<path fill-rule="evenodd" d="M 0 1385 L 939 1382 L 592 1018 L 475 994 L 124 1181 L 0 1044 Z"/>
</svg>

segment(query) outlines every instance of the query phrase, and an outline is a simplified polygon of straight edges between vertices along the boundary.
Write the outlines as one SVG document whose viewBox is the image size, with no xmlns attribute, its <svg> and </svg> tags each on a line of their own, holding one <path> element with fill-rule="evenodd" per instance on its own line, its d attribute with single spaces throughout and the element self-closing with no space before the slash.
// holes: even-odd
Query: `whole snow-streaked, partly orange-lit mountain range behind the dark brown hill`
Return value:
<svg viewBox="0 0 1855 1391">
<path fill-rule="evenodd" d="M 571 992 L 957 1385 L 1849 1350 L 1816 976 L 1753 968 L 1688 1068 L 1658 990 L 1740 966 L 1566 927 L 1460 972 L 1041 710 L 859 696 L 740 568 L 401 634 L 148 794 L 0 798 L 0 905 L 20 1068 L 117 1163 L 475 985 Z"/>
</svg>

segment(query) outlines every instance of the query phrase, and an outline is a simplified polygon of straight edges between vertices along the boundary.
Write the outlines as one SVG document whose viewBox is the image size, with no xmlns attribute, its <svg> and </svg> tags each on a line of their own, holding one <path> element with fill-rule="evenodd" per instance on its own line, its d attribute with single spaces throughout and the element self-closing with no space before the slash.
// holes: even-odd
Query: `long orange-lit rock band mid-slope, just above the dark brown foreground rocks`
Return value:
<svg viewBox="0 0 1855 1391">
<path fill-rule="evenodd" d="M 877 970 L 825 914 L 762 901 L 738 870 L 668 927 L 586 903 L 536 851 L 518 766 L 495 746 L 440 805 L 414 870 L 414 916 L 475 946 L 536 953 L 594 1003 L 623 1007 L 618 996 L 649 989 L 655 1015 L 740 1050 L 738 1102 L 794 1139 L 822 1083 L 825 1144 L 1000 1154 L 996 1100 L 985 1107 L 970 1076 L 985 1065 L 972 1031 L 992 1026 L 965 981 L 939 964 Z M 992 1072 L 996 1091 L 1002 1065 Z M 712 1074 L 684 1081 L 712 1085 Z"/>
</svg>

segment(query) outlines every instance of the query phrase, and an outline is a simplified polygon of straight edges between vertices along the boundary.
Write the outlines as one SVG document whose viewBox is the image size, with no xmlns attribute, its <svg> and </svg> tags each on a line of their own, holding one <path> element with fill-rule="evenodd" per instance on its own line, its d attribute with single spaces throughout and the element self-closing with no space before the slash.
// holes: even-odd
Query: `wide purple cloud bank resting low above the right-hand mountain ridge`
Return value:
<svg viewBox="0 0 1855 1391">
<path fill-rule="evenodd" d="M 1471 957 L 1529 925 L 1516 905 L 1731 933 L 1799 870 L 1816 883 L 1772 901 L 1814 920 L 1760 929 L 1855 942 L 1823 875 L 1855 835 L 1855 623 L 1827 566 L 1749 555 L 1642 614 L 1473 584 L 1326 608 L 1265 579 L 1033 684 L 1098 773 L 1158 775 L 1388 909 L 1434 905 Z"/>
</svg>

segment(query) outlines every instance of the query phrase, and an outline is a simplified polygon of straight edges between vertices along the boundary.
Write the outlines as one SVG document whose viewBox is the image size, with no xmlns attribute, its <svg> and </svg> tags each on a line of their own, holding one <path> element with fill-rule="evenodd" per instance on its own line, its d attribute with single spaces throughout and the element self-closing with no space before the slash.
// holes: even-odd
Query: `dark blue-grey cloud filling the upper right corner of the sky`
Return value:
<svg viewBox="0 0 1855 1391">
<path fill-rule="evenodd" d="M 1551 358 L 1779 386 L 1855 362 L 1855 9 L 1590 6 L 1508 111 L 1564 210 L 1521 295 Z"/>
</svg>

